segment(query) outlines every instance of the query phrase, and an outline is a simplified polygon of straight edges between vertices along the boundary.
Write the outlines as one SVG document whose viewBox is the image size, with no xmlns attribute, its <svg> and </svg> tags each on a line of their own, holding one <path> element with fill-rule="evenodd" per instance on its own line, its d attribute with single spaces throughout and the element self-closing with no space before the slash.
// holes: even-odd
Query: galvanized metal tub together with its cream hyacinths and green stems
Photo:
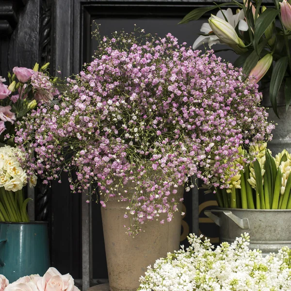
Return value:
<svg viewBox="0 0 291 291">
<path fill-rule="evenodd" d="M 291 247 L 291 156 L 283 150 L 274 158 L 266 146 L 250 146 L 255 161 L 240 160 L 235 165 L 242 168 L 240 173 L 223 189 L 214 190 L 220 208 L 205 210 L 220 226 L 221 242 L 247 231 L 250 248 L 264 255 Z"/>
</svg>

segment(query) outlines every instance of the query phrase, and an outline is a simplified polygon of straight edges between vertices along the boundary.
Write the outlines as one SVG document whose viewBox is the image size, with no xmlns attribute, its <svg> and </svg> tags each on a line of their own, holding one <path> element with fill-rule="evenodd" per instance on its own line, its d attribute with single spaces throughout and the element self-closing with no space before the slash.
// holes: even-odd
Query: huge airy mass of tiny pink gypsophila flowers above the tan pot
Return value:
<svg viewBox="0 0 291 291">
<path fill-rule="evenodd" d="M 170 221 L 177 188 L 193 175 L 227 187 L 239 146 L 270 139 L 274 127 L 240 69 L 170 33 L 140 33 L 99 38 L 95 59 L 67 80 L 59 104 L 25 117 L 15 139 L 28 150 L 28 173 L 45 183 L 76 170 L 72 191 L 95 183 L 103 207 L 113 196 L 127 200 L 129 234 L 161 213 Z"/>
</svg>

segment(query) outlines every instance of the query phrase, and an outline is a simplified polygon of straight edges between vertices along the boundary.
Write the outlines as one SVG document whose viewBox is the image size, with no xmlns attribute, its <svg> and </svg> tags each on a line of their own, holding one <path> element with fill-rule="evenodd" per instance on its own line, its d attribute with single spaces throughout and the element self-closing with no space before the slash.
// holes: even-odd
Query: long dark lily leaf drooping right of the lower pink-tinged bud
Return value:
<svg viewBox="0 0 291 291">
<path fill-rule="evenodd" d="M 277 113 L 277 94 L 282 84 L 286 69 L 288 66 L 288 57 L 279 59 L 273 69 L 270 82 L 270 100 L 275 114 Z M 278 116 L 279 117 L 279 116 Z"/>
</svg>

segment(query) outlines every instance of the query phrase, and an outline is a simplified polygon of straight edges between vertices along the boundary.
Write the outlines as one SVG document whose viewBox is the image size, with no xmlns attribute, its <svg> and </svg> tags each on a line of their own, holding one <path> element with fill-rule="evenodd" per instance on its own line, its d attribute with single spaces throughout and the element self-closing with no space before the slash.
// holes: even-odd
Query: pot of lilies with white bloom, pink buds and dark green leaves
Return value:
<svg viewBox="0 0 291 291">
<path fill-rule="evenodd" d="M 266 8 L 262 1 L 246 0 L 239 3 L 220 3 L 198 8 L 186 15 L 180 23 L 199 19 L 203 14 L 219 8 L 217 15 L 211 15 L 201 27 L 200 35 L 193 48 L 203 43 L 226 44 L 239 57 L 234 63 L 242 67 L 246 75 L 255 75 L 260 81 L 263 93 L 262 105 L 268 109 L 269 120 L 278 124 L 269 147 L 273 152 L 284 148 L 291 151 L 291 5 L 287 0 L 273 0 L 274 7 Z M 271 1 L 272 2 L 272 1 Z M 233 4 L 232 10 L 221 10 L 224 5 Z"/>
</svg>

